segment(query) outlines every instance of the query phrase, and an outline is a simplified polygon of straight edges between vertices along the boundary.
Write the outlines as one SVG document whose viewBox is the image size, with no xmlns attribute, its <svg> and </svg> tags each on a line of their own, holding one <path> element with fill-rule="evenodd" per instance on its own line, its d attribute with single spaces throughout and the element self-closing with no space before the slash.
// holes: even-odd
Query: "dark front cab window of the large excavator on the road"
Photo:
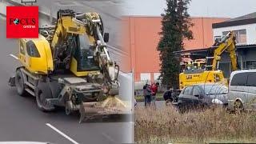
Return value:
<svg viewBox="0 0 256 144">
<path fill-rule="evenodd" d="M 78 62 L 78 71 L 99 70 L 98 63 L 94 59 L 94 46 L 86 34 L 78 35 L 78 47 L 75 50 L 74 58 Z"/>
</svg>

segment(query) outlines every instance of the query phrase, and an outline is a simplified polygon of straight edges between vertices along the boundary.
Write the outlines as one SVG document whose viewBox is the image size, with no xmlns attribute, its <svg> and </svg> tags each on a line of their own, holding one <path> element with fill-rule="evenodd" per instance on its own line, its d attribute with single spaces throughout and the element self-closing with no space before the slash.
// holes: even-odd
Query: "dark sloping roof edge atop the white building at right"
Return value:
<svg viewBox="0 0 256 144">
<path fill-rule="evenodd" d="M 225 22 L 214 23 L 212 27 L 221 28 L 221 27 L 228 27 L 228 26 L 248 25 L 252 23 L 256 23 L 256 12 L 251 14 L 246 14 L 237 18 L 232 18 L 232 19 L 226 20 Z"/>
</svg>

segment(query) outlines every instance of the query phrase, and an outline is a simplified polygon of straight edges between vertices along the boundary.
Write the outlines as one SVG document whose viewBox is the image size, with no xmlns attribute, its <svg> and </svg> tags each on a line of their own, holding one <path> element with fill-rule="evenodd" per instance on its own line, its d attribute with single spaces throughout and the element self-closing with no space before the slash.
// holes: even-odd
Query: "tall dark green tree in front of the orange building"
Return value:
<svg viewBox="0 0 256 144">
<path fill-rule="evenodd" d="M 162 84 L 178 88 L 178 74 L 180 72 L 180 60 L 174 51 L 183 50 L 183 40 L 193 39 L 190 27 L 190 14 L 188 5 L 190 0 L 166 0 L 165 14 L 162 14 L 162 32 L 157 50 L 160 52 L 160 72 Z"/>
</svg>

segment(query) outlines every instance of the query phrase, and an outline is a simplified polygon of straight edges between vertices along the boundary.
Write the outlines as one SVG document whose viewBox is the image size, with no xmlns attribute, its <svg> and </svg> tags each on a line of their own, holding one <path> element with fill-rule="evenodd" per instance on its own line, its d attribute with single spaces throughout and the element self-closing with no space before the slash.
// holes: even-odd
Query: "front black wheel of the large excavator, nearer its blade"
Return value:
<svg viewBox="0 0 256 144">
<path fill-rule="evenodd" d="M 35 90 L 35 97 L 39 110 L 42 110 L 43 112 L 55 110 L 55 107 L 46 101 L 46 98 L 52 98 L 50 87 L 46 82 L 38 82 L 38 86 Z"/>
</svg>

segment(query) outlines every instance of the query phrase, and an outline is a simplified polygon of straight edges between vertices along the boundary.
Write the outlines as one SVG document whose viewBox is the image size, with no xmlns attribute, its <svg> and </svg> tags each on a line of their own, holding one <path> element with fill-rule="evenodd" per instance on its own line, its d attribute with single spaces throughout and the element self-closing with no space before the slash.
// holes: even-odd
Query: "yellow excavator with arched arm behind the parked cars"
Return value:
<svg viewBox="0 0 256 144">
<path fill-rule="evenodd" d="M 238 70 L 235 44 L 235 34 L 233 31 L 230 31 L 222 39 L 217 39 L 208 50 L 205 68 L 190 67 L 190 69 L 183 70 L 179 74 L 179 89 L 182 90 L 185 86 L 206 82 L 220 82 L 227 86 L 227 79 L 224 78 L 224 74 L 222 70 L 218 69 L 218 66 L 221 54 L 227 51 L 230 54 L 232 70 Z"/>
</svg>

